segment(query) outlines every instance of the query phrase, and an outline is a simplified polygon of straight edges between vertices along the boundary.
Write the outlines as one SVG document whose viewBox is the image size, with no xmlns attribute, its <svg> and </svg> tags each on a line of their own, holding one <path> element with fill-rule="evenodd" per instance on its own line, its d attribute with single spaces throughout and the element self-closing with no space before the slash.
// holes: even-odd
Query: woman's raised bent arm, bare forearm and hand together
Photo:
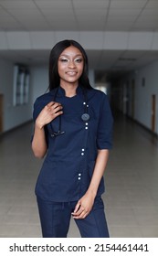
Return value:
<svg viewBox="0 0 158 256">
<path fill-rule="evenodd" d="M 63 112 L 61 104 L 58 102 L 49 102 L 38 114 L 35 122 L 35 133 L 32 140 L 32 150 L 37 158 L 43 158 L 47 153 L 47 142 L 45 136 L 45 125 L 54 120 Z"/>
</svg>

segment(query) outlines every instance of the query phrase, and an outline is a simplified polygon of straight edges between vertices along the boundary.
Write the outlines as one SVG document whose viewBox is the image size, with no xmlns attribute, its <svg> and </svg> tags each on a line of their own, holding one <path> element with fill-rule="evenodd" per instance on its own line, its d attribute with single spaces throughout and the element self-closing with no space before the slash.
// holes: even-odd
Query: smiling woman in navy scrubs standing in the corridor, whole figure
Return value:
<svg viewBox="0 0 158 256">
<path fill-rule="evenodd" d="M 81 237 L 109 237 L 101 195 L 113 119 L 106 94 L 90 86 L 78 42 L 52 48 L 48 92 L 35 101 L 33 119 L 32 150 L 44 158 L 36 185 L 43 237 L 66 238 L 71 217 Z"/>
</svg>

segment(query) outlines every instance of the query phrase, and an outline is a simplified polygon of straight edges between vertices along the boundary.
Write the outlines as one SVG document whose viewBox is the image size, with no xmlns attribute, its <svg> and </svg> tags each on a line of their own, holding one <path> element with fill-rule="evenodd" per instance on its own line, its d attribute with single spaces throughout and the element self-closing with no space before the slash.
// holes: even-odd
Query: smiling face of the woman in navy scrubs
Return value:
<svg viewBox="0 0 158 256">
<path fill-rule="evenodd" d="M 84 59 L 79 49 L 73 46 L 66 48 L 58 58 L 60 85 L 78 84 L 83 67 Z"/>
</svg>

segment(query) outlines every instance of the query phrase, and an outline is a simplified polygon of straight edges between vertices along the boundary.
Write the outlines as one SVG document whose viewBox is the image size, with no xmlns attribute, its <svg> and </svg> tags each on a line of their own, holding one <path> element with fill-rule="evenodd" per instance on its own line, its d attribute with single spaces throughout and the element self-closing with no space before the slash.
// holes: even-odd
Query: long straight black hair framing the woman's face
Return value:
<svg viewBox="0 0 158 256">
<path fill-rule="evenodd" d="M 83 88 L 91 89 L 90 81 L 88 78 L 89 67 L 88 67 L 87 54 L 86 54 L 84 48 L 82 48 L 81 45 L 79 45 L 79 43 L 77 41 L 66 39 L 66 40 L 58 42 L 54 46 L 54 48 L 52 48 L 50 51 L 50 55 L 49 55 L 49 86 L 48 86 L 49 91 L 51 91 L 54 88 L 57 88 L 59 86 L 60 78 L 58 75 L 58 58 L 59 58 L 60 54 L 63 52 L 63 50 L 70 46 L 79 48 L 79 51 L 81 52 L 83 59 L 84 59 L 84 67 L 83 67 L 83 72 L 79 78 L 79 84 L 81 84 L 81 86 Z"/>
</svg>

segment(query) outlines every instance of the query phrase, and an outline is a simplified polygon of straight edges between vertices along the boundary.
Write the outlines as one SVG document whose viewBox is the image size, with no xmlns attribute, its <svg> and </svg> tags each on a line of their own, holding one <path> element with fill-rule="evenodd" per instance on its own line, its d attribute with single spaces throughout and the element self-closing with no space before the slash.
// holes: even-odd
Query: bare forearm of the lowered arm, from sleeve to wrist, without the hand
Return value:
<svg viewBox="0 0 158 256">
<path fill-rule="evenodd" d="M 90 187 L 88 188 L 88 192 L 90 192 L 90 194 L 92 194 L 94 197 L 96 197 L 98 187 L 100 186 L 100 179 L 105 172 L 108 158 L 109 158 L 108 149 L 99 150 L 93 175 L 90 181 Z"/>
</svg>

